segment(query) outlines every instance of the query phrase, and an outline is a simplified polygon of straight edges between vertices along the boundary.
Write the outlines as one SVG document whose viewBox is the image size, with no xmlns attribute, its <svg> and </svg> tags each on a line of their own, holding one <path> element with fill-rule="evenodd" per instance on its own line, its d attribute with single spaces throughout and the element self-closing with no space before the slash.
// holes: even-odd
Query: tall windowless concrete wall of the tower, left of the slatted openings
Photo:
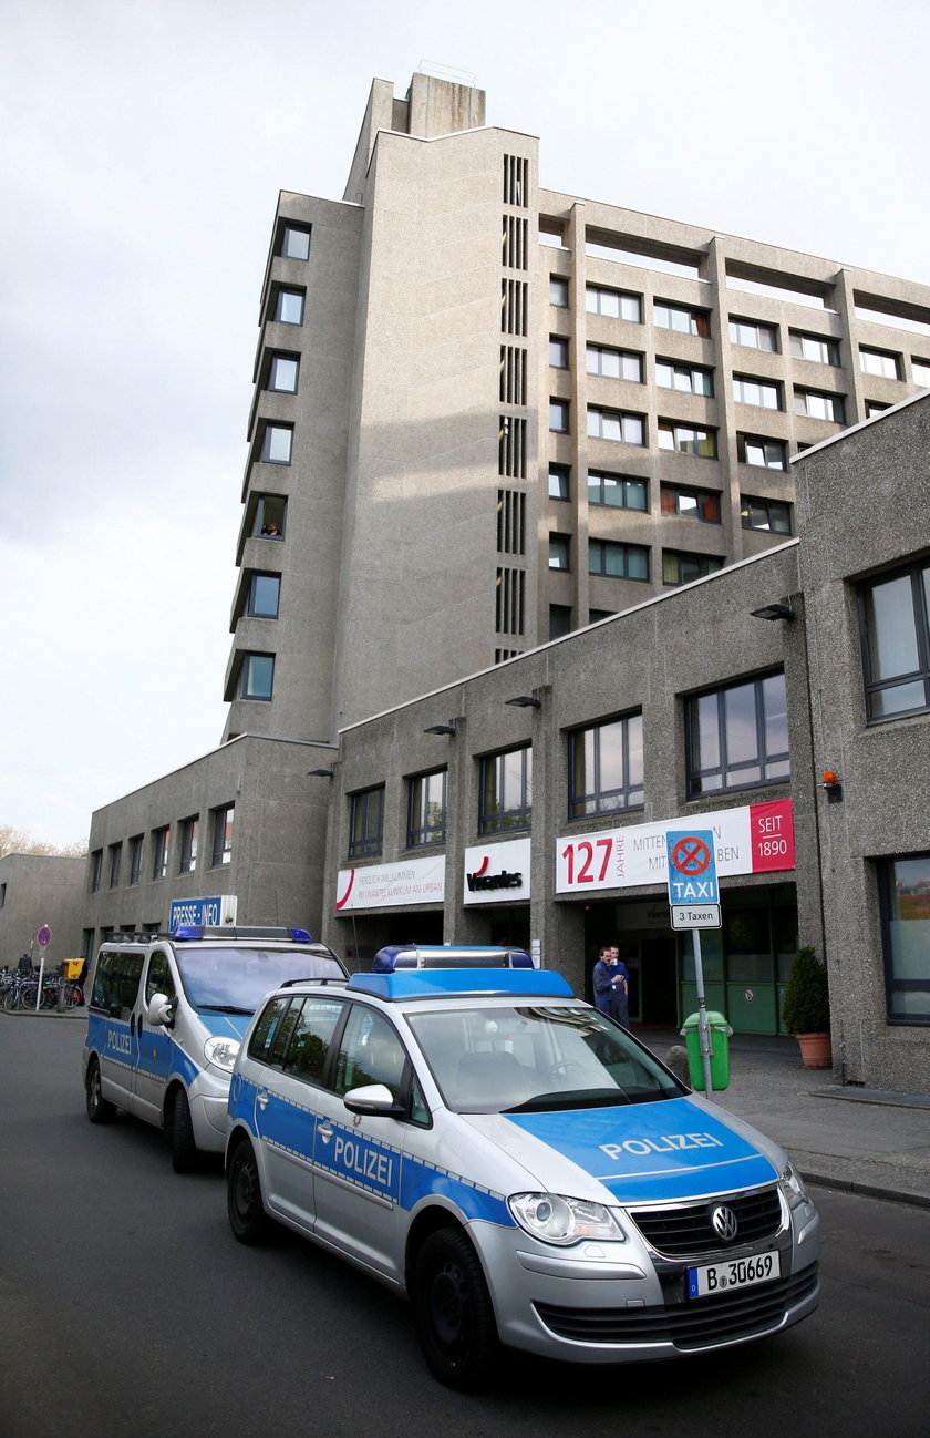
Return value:
<svg viewBox="0 0 930 1438">
<path fill-rule="evenodd" d="M 500 131 L 378 137 L 341 591 L 342 722 L 493 659 Z M 517 341 L 515 341 L 517 342 Z M 519 338 L 519 344 L 525 344 Z"/>
</svg>

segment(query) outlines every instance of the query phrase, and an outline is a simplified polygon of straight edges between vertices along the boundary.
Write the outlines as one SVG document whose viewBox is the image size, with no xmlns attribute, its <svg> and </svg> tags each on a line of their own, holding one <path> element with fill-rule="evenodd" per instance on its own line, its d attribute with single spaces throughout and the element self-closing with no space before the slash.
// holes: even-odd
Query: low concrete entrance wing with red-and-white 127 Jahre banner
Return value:
<svg viewBox="0 0 930 1438">
<path fill-rule="evenodd" d="M 844 1080 L 927 1091 L 929 452 L 903 401 L 799 457 L 799 539 L 346 728 L 329 942 L 525 943 L 584 991 L 614 940 L 631 1018 L 677 1025 L 666 833 L 710 828 L 709 1008 L 778 1032 L 811 943 Z"/>
</svg>

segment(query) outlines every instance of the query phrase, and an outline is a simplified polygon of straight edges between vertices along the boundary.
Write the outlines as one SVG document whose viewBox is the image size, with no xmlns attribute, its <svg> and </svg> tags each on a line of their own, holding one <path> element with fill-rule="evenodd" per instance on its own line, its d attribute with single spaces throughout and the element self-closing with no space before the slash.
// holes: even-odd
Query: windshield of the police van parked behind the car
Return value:
<svg viewBox="0 0 930 1438">
<path fill-rule="evenodd" d="M 254 1014 L 269 989 L 289 979 L 345 978 L 338 959 L 312 949 L 175 949 L 184 992 L 194 1008 Z"/>
</svg>

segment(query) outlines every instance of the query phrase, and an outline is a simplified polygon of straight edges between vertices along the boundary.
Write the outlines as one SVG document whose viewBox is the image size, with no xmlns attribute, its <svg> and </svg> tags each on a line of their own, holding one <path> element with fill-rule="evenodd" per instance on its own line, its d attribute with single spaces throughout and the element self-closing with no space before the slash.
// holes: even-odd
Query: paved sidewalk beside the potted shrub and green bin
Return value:
<svg viewBox="0 0 930 1438">
<path fill-rule="evenodd" d="M 666 1058 L 678 1034 L 640 1037 Z M 788 1150 L 809 1183 L 930 1208 L 930 1094 L 841 1087 L 829 1068 L 804 1068 L 793 1038 L 735 1034 L 730 1086 L 714 1103 Z"/>
</svg>

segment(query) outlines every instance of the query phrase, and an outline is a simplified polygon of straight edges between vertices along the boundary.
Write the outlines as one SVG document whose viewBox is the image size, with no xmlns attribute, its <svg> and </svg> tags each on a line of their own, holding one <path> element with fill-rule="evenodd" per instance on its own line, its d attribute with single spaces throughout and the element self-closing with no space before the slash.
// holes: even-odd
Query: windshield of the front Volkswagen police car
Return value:
<svg viewBox="0 0 930 1438">
<path fill-rule="evenodd" d="M 680 1099 L 681 1084 L 631 1034 L 586 1005 L 410 1014 L 448 1109 L 530 1113 Z"/>
</svg>

